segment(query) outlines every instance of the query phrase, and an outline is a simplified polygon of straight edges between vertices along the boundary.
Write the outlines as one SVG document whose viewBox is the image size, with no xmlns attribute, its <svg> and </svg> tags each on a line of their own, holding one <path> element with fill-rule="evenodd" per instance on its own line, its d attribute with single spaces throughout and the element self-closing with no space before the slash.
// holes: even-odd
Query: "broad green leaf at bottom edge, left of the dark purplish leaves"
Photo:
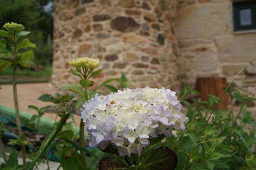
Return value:
<svg viewBox="0 0 256 170">
<path fill-rule="evenodd" d="M 65 159 L 62 157 L 61 159 L 61 167 L 63 170 L 83 170 L 84 165 L 82 163 L 81 157 L 77 152 L 72 154 L 71 158 Z"/>
</svg>

